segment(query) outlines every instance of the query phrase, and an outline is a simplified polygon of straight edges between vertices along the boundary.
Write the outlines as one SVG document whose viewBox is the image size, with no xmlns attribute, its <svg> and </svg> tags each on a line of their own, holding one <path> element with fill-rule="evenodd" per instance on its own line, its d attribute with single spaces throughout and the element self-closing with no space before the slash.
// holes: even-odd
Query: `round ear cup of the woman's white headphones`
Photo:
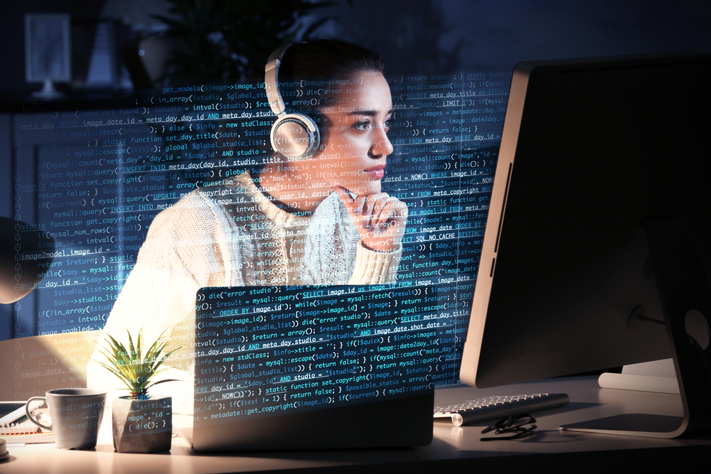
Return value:
<svg viewBox="0 0 711 474">
<path fill-rule="evenodd" d="M 321 144 L 321 134 L 311 117 L 303 114 L 287 114 L 272 125 L 272 149 L 277 153 L 299 161 L 316 153 Z"/>
</svg>

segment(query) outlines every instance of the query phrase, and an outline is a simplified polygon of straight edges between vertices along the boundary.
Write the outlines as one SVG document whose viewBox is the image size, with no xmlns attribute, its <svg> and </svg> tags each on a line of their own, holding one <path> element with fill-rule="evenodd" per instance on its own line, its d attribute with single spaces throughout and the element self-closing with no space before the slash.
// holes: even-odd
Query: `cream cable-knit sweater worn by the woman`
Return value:
<svg viewBox="0 0 711 474">
<path fill-rule="evenodd" d="M 363 247 L 348 210 L 331 193 L 313 215 L 278 208 L 249 173 L 199 188 L 151 222 L 146 242 L 117 298 L 105 332 L 127 341 L 143 328 L 152 343 L 162 333 L 183 347 L 175 367 L 149 393 L 173 397 L 173 411 L 192 414 L 191 361 L 196 292 L 203 286 L 394 283 L 402 246 L 395 252 Z M 176 353 L 176 356 L 178 354 Z M 98 352 L 97 360 L 105 361 Z M 89 363 L 88 387 L 118 389 L 120 382 Z M 113 392 L 113 393 L 111 393 Z M 109 392 L 109 399 L 127 391 Z"/>
</svg>

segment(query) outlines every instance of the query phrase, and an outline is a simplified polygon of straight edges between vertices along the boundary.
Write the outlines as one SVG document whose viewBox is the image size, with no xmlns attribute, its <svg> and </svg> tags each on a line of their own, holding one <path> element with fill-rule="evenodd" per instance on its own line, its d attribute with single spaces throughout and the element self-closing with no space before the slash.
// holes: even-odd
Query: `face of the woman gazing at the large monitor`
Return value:
<svg viewBox="0 0 711 474">
<path fill-rule="evenodd" d="M 386 134 L 392 115 L 390 87 L 380 72 L 361 72 L 352 82 L 358 83 L 338 86 L 335 100 L 321 108 L 326 148 L 311 161 L 311 183 L 341 186 L 357 195 L 380 193 L 385 158 L 392 153 Z"/>
</svg>

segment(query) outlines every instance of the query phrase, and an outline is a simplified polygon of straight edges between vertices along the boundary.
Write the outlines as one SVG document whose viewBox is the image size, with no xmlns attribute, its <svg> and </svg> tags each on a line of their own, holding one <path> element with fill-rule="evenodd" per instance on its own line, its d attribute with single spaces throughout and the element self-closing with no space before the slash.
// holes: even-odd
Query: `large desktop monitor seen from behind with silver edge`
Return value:
<svg viewBox="0 0 711 474">
<path fill-rule="evenodd" d="M 707 53 L 517 66 L 463 382 L 674 357 L 685 419 L 641 428 L 633 417 L 621 430 L 673 437 L 708 426 L 709 351 L 685 325 L 707 332 L 700 315 L 711 316 L 709 84 Z"/>
</svg>

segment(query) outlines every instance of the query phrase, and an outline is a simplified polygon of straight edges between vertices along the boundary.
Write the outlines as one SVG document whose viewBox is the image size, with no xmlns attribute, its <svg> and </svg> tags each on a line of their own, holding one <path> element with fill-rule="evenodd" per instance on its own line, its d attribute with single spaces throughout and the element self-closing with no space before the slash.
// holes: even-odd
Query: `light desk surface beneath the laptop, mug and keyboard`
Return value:
<svg viewBox="0 0 711 474">
<path fill-rule="evenodd" d="M 173 438 L 169 454 L 114 453 L 110 414 L 105 416 L 94 451 L 64 451 L 51 445 L 9 446 L 11 458 L 0 473 L 232 473 L 311 468 L 368 473 L 410 470 L 445 472 L 458 468 L 520 470 L 525 473 L 570 473 L 572 465 L 606 472 L 707 472 L 711 469 L 711 436 L 676 440 L 562 432 L 560 424 L 622 413 L 681 415 L 678 395 L 600 389 L 597 377 L 550 379 L 492 389 L 454 387 L 435 393 L 437 405 L 493 394 L 557 392 L 570 395 L 565 407 L 536 414 L 535 436 L 520 441 L 482 443 L 481 426 L 456 427 L 434 423 L 429 446 L 369 451 L 289 451 L 206 455 L 191 450 L 183 438 Z M 188 416 L 176 416 L 186 426 Z M 385 423 L 387 421 L 383 421 Z M 579 469 L 574 469 L 579 470 Z M 482 471 L 479 471 L 482 472 Z M 493 472 L 493 471 L 491 471 Z"/>
</svg>

